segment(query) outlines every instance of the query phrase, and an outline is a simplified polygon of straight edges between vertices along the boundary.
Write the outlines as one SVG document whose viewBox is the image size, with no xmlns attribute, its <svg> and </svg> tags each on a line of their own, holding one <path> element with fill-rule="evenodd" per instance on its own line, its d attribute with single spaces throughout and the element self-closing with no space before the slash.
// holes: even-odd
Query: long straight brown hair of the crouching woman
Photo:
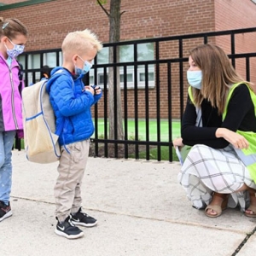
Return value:
<svg viewBox="0 0 256 256">
<path fill-rule="evenodd" d="M 211 102 L 218 113 L 224 113 L 226 97 L 230 86 L 236 83 L 250 83 L 242 79 L 231 65 L 229 57 L 217 45 L 202 44 L 189 53 L 195 64 L 201 69 L 201 90 L 192 89 L 194 102 L 200 107 L 203 99 Z"/>
</svg>

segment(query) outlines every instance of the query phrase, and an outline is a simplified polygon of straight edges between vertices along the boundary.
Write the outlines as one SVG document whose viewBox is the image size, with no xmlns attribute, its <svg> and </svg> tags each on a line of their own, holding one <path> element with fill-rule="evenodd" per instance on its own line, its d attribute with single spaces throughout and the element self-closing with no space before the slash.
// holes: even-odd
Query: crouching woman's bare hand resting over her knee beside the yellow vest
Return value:
<svg viewBox="0 0 256 256">
<path fill-rule="evenodd" d="M 223 137 L 226 141 L 231 143 L 235 148 L 248 148 L 249 143 L 247 139 L 240 134 L 236 133 L 235 131 L 230 131 L 226 128 L 218 128 L 216 130 L 216 137 Z"/>
</svg>

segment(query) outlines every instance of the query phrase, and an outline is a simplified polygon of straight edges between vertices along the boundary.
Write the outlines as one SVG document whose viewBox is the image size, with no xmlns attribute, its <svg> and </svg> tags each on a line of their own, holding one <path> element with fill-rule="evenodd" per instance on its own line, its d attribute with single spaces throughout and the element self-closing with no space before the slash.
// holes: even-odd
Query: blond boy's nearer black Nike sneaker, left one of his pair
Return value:
<svg viewBox="0 0 256 256">
<path fill-rule="evenodd" d="M 84 236 L 84 232 L 73 225 L 70 216 L 68 216 L 63 222 L 58 221 L 55 233 L 59 236 L 65 236 L 67 239 L 75 239 Z"/>
</svg>

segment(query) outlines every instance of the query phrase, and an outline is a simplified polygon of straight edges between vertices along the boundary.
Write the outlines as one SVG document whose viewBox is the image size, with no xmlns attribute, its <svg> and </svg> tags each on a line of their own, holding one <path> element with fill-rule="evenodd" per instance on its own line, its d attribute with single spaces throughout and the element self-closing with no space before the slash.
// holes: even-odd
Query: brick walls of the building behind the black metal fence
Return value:
<svg viewBox="0 0 256 256">
<path fill-rule="evenodd" d="M 104 7 L 109 9 L 110 0 L 102 2 L 104 2 Z M 121 40 L 162 38 L 199 32 L 255 27 L 255 2 L 254 0 L 152 0 L 150 2 L 146 0 L 122 0 L 121 10 L 125 11 L 125 13 L 121 16 Z M 3 18 L 16 17 L 26 24 L 30 33 L 26 51 L 58 49 L 61 47 L 61 42 L 67 32 L 83 30 L 86 27 L 96 32 L 103 43 L 108 43 L 108 16 L 102 11 L 96 0 L 0 0 L 0 4 L 0 16 L 3 16 Z M 256 52 L 255 42 L 256 32 L 237 35 L 236 53 Z M 210 43 L 218 44 L 224 48 L 227 54 L 230 54 L 230 37 L 211 38 Z M 202 39 L 184 41 L 183 56 L 188 56 L 188 50 L 197 44 L 203 44 Z M 177 41 L 160 44 L 160 57 L 178 57 L 177 45 Z M 250 60 L 250 79 L 256 84 L 256 60 L 254 59 Z M 44 64 L 51 63 L 50 56 L 48 60 L 46 58 L 44 61 Z M 35 59 L 34 63 L 32 61 L 31 65 L 32 67 L 37 67 L 37 60 Z M 244 67 L 244 60 L 236 60 L 237 70 L 245 77 Z M 186 68 L 184 65 L 184 71 Z M 178 117 L 180 114 L 179 71 L 175 66 L 172 70 L 172 84 L 175 84 L 172 87 L 172 116 Z M 161 90 L 164 90 L 166 88 L 166 69 L 164 68 L 160 69 L 160 82 Z M 156 100 L 154 94 L 155 86 L 153 83 L 149 93 L 149 115 L 151 118 L 155 118 L 154 106 Z M 131 85 L 131 90 L 128 92 L 128 102 L 131 104 L 129 108 L 130 117 L 132 117 L 134 110 L 132 96 Z M 131 101 L 129 101 L 129 97 Z M 143 94 L 139 95 L 140 117 L 143 117 L 145 113 L 144 101 Z M 160 102 L 161 118 L 167 118 L 168 116 L 165 108 L 166 102 L 167 97 L 163 96 Z M 101 104 L 102 102 L 99 104 L 100 111 Z"/>
</svg>

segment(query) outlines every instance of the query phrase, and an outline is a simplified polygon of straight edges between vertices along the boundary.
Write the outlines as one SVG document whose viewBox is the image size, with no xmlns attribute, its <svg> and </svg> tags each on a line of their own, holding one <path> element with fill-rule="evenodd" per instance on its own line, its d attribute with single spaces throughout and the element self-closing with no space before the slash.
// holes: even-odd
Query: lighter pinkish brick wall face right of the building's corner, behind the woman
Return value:
<svg viewBox="0 0 256 256">
<path fill-rule="evenodd" d="M 215 30 L 230 30 L 256 26 L 256 4 L 251 0 L 216 0 Z M 236 53 L 256 52 L 256 32 L 235 36 Z M 230 37 L 216 38 L 227 54 L 231 53 Z M 246 79 L 244 60 L 236 60 L 236 70 Z M 251 82 L 256 84 L 256 58 L 250 61 Z M 254 85 L 254 89 L 256 86 Z"/>
</svg>

